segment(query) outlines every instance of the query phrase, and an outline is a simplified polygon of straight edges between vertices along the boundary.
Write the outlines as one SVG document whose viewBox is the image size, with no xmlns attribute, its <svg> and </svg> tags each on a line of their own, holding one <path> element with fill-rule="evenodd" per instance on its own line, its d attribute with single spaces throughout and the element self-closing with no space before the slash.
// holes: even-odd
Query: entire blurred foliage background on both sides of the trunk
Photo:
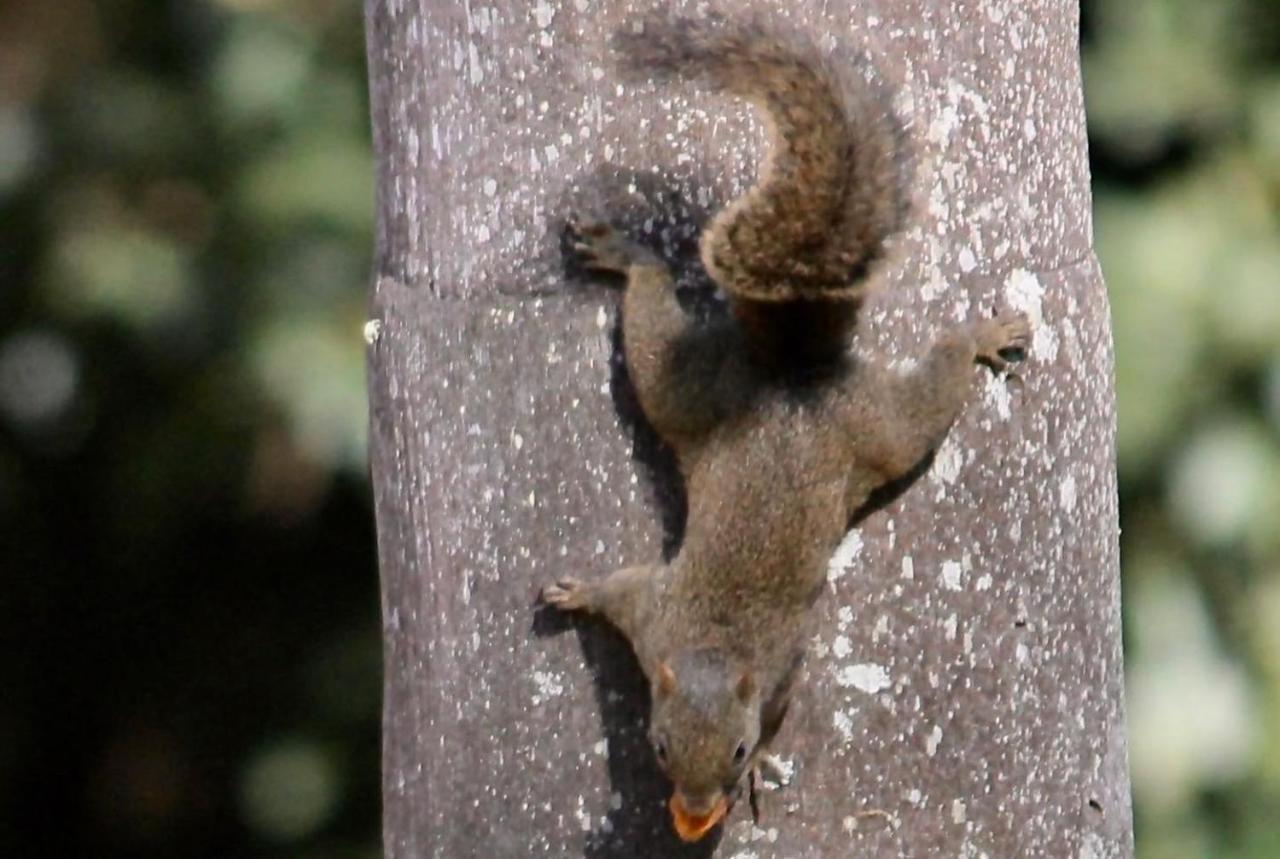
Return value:
<svg viewBox="0 0 1280 859">
<path fill-rule="evenodd" d="M 1277 6 L 1084 6 L 1140 859 L 1280 855 Z M 0 5 L 4 855 L 379 855 L 371 182 L 355 0 Z"/>
</svg>

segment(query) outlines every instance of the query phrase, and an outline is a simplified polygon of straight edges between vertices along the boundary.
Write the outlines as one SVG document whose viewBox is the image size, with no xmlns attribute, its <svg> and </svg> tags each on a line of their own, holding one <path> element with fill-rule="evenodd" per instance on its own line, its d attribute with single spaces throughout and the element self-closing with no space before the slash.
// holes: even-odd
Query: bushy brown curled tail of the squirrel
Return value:
<svg viewBox="0 0 1280 859">
<path fill-rule="evenodd" d="M 769 152 L 758 182 L 700 241 L 730 297 L 859 298 L 906 211 L 902 132 L 882 90 L 753 20 L 653 17 L 613 44 L 632 74 L 691 79 L 762 109 Z"/>
</svg>

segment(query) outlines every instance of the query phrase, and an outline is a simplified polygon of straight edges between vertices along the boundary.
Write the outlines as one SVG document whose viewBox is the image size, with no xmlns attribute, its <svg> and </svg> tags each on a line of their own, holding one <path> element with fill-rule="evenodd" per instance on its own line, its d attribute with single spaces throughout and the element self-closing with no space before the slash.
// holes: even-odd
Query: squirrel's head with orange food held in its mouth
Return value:
<svg viewBox="0 0 1280 859">
<path fill-rule="evenodd" d="M 728 812 L 760 739 L 760 693 L 751 672 L 723 650 L 690 650 L 653 677 L 649 736 L 671 778 L 671 817 L 696 841 Z"/>
</svg>

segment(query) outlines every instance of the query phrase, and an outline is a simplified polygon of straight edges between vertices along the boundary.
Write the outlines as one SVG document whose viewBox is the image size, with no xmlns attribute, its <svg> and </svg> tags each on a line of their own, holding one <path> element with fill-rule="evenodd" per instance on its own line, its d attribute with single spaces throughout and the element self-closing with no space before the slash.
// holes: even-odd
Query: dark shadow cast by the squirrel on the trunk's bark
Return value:
<svg viewBox="0 0 1280 859">
<path fill-rule="evenodd" d="M 584 181 L 559 211 L 608 213 L 609 218 L 641 237 L 654 252 L 671 261 L 677 271 L 677 297 L 690 316 L 700 323 L 723 317 L 727 311 L 698 259 L 698 236 L 710 211 L 722 204 L 705 177 L 655 174 L 602 169 Z M 566 195 L 568 196 L 568 195 Z M 691 200 L 709 200 L 707 207 Z M 602 289 L 616 289 L 620 312 L 609 333 L 609 396 L 614 412 L 631 442 L 631 458 L 646 485 L 662 525 L 662 557 L 678 552 L 685 533 L 687 501 L 673 451 L 663 443 L 644 416 L 623 357 L 621 294 L 625 278 L 604 278 L 584 269 L 572 251 L 568 224 L 556 224 L 549 241 L 559 242 L 571 294 L 596 300 Z M 600 571 L 584 570 L 591 575 Z M 572 630 L 591 673 L 602 732 L 608 744 L 609 787 L 616 798 L 603 824 L 586 833 L 585 859 L 709 859 L 721 842 L 713 832 L 695 844 L 681 841 L 671 827 L 667 798 L 671 781 L 654 759 L 648 739 L 649 684 L 627 639 L 602 618 L 566 614 L 539 606 L 532 632 L 539 638 Z"/>
</svg>

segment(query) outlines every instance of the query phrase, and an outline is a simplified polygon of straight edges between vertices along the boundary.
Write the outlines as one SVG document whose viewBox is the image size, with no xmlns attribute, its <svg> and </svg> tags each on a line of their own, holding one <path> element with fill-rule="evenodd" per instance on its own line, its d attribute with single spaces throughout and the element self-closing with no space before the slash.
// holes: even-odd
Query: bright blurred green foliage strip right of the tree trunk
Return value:
<svg viewBox="0 0 1280 859">
<path fill-rule="evenodd" d="M 1280 4 L 1091 0 L 1139 859 L 1280 856 Z"/>
</svg>

